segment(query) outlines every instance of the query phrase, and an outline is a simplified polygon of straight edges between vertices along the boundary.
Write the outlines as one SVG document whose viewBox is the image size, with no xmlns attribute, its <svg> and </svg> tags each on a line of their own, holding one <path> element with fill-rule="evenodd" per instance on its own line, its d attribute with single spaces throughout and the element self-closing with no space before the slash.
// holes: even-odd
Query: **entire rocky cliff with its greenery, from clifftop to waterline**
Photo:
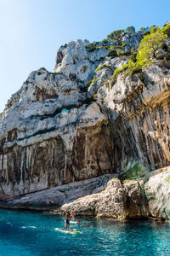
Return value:
<svg viewBox="0 0 170 256">
<path fill-rule="evenodd" d="M 170 23 L 61 46 L 0 116 L 0 207 L 170 218 Z"/>
</svg>

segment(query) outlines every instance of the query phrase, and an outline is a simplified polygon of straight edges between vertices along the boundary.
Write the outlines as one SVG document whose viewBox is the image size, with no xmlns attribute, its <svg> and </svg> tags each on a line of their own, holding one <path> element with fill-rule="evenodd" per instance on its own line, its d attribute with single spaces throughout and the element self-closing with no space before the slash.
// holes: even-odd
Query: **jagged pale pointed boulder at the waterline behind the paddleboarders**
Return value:
<svg viewBox="0 0 170 256">
<path fill-rule="evenodd" d="M 87 195 L 74 202 L 66 203 L 58 212 L 67 212 L 74 208 L 77 215 L 97 216 L 98 218 L 127 218 L 126 193 L 120 180 L 109 181 L 105 191 Z"/>
</svg>

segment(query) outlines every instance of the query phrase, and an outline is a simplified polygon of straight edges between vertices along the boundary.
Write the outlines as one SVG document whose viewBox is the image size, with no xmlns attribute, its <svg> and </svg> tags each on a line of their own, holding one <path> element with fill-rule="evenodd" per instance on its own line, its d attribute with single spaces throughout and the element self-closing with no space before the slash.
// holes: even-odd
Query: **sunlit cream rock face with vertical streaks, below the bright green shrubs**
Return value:
<svg viewBox="0 0 170 256">
<path fill-rule="evenodd" d="M 112 89 L 108 91 L 108 86 Z M 119 162 L 132 157 L 152 170 L 170 164 L 170 71 L 156 61 L 142 74 L 111 81 L 99 89 L 105 95 L 109 119 L 114 127 L 113 137 L 121 152 Z"/>
</svg>

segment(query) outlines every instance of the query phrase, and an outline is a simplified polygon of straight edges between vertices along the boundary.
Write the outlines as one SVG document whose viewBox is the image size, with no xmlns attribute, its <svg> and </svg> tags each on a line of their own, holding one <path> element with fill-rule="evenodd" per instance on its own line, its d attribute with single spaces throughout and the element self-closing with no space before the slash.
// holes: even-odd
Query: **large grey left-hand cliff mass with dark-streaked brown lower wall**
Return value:
<svg viewBox="0 0 170 256">
<path fill-rule="evenodd" d="M 0 198 L 113 172 L 111 126 L 63 74 L 31 73 L 1 120 Z"/>
</svg>

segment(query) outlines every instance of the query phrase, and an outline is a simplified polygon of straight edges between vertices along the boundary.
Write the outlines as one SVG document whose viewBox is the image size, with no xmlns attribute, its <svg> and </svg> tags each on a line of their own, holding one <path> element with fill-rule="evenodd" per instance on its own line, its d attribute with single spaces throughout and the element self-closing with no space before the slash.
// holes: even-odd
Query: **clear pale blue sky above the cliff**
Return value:
<svg viewBox="0 0 170 256">
<path fill-rule="evenodd" d="M 54 69 L 61 44 L 163 26 L 169 10 L 170 0 L 0 0 L 0 112 L 32 70 Z"/>
</svg>

